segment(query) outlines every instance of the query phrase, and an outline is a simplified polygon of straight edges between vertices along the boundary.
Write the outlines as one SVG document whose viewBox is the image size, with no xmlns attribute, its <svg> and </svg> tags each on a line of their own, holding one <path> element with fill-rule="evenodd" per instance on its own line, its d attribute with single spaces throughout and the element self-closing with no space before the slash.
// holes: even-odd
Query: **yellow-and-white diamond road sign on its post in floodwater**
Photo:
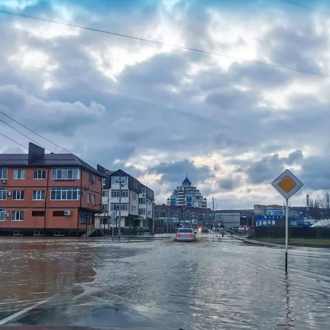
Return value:
<svg viewBox="0 0 330 330">
<path fill-rule="evenodd" d="M 290 170 L 285 170 L 278 178 L 272 182 L 272 186 L 285 198 L 285 273 L 287 273 L 289 222 L 288 201 L 289 198 L 303 186 L 303 183 Z"/>
</svg>

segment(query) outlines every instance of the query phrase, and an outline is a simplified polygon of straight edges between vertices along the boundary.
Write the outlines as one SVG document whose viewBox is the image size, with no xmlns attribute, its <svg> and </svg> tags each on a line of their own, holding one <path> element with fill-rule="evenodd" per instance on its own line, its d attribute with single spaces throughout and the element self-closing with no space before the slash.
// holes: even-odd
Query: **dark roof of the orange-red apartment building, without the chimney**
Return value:
<svg viewBox="0 0 330 330">
<path fill-rule="evenodd" d="M 32 166 L 32 167 L 48 167 L 48 166 L 79 166 L 83 169 L 95 173 L 103 177 L 94 167 L 88 165 L 81 158 L 72 153 L 46 153 L 40 155 L 31 163 L 28 163 L 28 154 L 0 154 L 0 166 Z"/>
</svg>

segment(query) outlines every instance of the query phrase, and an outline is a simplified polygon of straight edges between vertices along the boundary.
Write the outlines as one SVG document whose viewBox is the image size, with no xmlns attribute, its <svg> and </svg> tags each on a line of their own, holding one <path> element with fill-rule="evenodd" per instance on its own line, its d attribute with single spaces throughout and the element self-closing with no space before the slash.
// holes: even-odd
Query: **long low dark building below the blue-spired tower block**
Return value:
<svg viewBox="0 0 330 330">
<path fill-rule="evenodd" d="M 185 207 L 183 213 L 182 206 L 156 205 L 155 206 L 156 225 L 167 227 L 172 224 L 174 227 L 182 227 L 183 223 L 188 228 L 199 228 L 213 226 L 213 211 L 205 208 Z"/>
</svg>

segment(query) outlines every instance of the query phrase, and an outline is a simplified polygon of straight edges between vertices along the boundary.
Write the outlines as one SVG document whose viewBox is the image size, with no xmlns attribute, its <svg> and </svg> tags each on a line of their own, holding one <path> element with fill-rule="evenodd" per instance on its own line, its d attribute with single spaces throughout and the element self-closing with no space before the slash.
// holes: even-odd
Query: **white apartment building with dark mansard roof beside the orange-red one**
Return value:
<svg viewBox="0 0 330 330">
<path fill-rule="evenodd" d="M 102 213 L 96 216 L 97 228 L 144 228 L 152 226 L 153 191 L 122 170 L 109 171 L 97 165 L 105 176 L 102 192 Z M 121 180 L 121 181 L 120 181 Z M 119 196 L 121 191 L 121 219 L 119 220 Z"/>
</svg>

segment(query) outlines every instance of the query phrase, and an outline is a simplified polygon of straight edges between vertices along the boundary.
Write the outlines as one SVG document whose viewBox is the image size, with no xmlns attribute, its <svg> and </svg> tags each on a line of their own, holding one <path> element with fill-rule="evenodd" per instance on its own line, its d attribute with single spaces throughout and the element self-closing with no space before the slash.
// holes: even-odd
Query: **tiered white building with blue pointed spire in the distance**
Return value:
<svg viewBox="0 0 330 330">
<path fill-rule="evenodd" d="M 181 185 L 173 190 L 173 194 L 167 199 L 167 205 L 171 206 L 186 206 L 196 208 L 207 208 L 207 199 L 203 198 L 199 189 L 192 186 L 189 179 L 186 177 Z"/>
</svg>

